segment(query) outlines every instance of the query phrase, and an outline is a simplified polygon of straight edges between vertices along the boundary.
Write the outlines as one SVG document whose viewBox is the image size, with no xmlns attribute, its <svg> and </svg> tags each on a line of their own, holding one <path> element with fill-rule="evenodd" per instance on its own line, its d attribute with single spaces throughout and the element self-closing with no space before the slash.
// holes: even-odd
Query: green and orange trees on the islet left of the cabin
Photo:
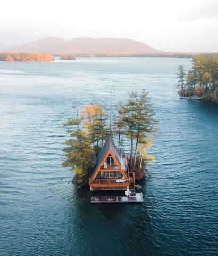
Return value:
<svg viewBox="0 0 218 256">
<path fill-rule="evenodd" d="M 81 115 L 77 106 L 73 106 L 73 109 L 76 110 L 76 118 L 69 118 L 64 124 L 70 127 L 66 132 L 72 138 L 65 142 L 67 147 L 63 151 L 66 153 L 66 161 L 62 166 L 70 167 L 74 172 L 77 185 L 85 185 L 95 166 L 94 155 L 98 154 L 108 134 L 106 114 L 97 104 L 85 106 Z"/>
</svg>

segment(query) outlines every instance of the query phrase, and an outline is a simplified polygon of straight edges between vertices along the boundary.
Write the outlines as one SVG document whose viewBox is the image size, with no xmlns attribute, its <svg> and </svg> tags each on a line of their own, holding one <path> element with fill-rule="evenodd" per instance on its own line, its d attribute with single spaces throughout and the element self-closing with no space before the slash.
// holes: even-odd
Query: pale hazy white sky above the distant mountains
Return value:
<svg viewBox="0 0 218 256">
<path fill-rule="evenodd" d="M 0 8 L 0 44 L 111 37 L 218 52 L 218 0 L 1 0 Z"/>
</svg>

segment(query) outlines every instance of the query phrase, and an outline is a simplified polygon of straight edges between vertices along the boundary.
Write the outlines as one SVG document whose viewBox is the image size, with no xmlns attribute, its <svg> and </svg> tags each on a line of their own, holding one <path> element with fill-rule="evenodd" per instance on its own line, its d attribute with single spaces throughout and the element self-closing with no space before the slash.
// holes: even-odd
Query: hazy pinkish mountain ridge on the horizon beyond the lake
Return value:
<svg viewBox="0 0 218 256">
<path fill-rule="evenodd" d="M 163 53 L 145 43 L 128 38 L 77 37 L 69 41 L 60 37 L 47 37 L 10 47 L 9 52 L 43 52 L 53 54 L 155 54 Z"/>
</svg>

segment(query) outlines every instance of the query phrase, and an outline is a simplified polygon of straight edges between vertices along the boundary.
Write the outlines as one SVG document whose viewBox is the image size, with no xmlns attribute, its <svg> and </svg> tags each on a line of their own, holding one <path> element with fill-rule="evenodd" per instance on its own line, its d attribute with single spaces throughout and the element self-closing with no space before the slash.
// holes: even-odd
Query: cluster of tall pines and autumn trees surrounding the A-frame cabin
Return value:
<svg viewBox="0 0 218 256">
<path fill-rule="evenodd" d="M 118 149 L 123 148 L 123 142 L 129 140 L 129 167 L 135 172 L 136 179 L 144 177 L 144 168 L 154 161 L 154 156 L 148 155 L 147 150 L 152 146 L 154 132 L 154 111 L 151 108 L 148 93 L 132 92 L 126 103 L 120 103 L 114 110 L 115 119 L 112 121 L 108 109 L 93 103 L 85 106 L 82 111 L 77 106 L 74 117 L 68 119 L 64 126 L 69 126 L 66 131 L 71 138 L 65 143 L 63 149 L 66 161 L 63 167 L 70 167 L 75 173 L 74 182 L 79 185 L 88 183 L 89 176 L 95 166 L 94 159 L 99 154 L 108 135 L 113 137 L 118 144 Z"/>
</svg>

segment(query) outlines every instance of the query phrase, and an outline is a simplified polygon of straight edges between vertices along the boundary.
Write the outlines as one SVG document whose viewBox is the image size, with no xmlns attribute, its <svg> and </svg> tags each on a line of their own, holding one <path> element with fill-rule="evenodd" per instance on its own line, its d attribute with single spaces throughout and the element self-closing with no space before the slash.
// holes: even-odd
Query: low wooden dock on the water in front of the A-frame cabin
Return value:
<svg viewBox="0 0 218 256">
<path fill-rule="evenodd" d="M 130 189 L 129 196 L 93 196 L 91 203 L 142 203 L 143 193 L 136 193 L 135 189 Z"/>
</svg>

